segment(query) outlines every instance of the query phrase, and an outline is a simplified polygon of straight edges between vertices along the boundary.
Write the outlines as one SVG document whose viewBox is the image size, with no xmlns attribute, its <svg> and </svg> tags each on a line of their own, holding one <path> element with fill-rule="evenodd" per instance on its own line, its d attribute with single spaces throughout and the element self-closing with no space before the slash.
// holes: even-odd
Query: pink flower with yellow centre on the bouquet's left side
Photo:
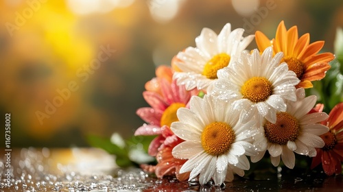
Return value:
<svg viewBox="0 0 343 192">
<path fill-rule="evenodd" d="M 156 71 L 161 70 L 161 67 Z M 185 107 L 196 91 L 189 92 L 185 90 L 184 86 L 176 85 L 175 81 L 169 82 L 172 75 L 172 71 L 169 68 L 163 67 L 165 72 L 159 75 L 156 79 L 150 81 L 150 84 L 146 84 L 147 88 L 151 88 L 154 91 L 144 91 L 143 97 L 150 108 L 139 108 L 137 115 L 141 117 L 148 125 L 144 124 L 134 135 L 158 135 L 149 146 L 149 154 L 156 156 L 158 147 L 161 146 L 165 138 L 169 135 L 164 135 L 161 127 L 165 126 L 165 129 L 169 129 L 172 122 L 178 121 L 176 117 L 176 111 L 180 107 Z M 169 75 L 169 76 L 168 76 Z M 153 85 L 156 84 L 156 85 Z M 161 93 L 161 94 L 160 94 Z"/>
</svg>

